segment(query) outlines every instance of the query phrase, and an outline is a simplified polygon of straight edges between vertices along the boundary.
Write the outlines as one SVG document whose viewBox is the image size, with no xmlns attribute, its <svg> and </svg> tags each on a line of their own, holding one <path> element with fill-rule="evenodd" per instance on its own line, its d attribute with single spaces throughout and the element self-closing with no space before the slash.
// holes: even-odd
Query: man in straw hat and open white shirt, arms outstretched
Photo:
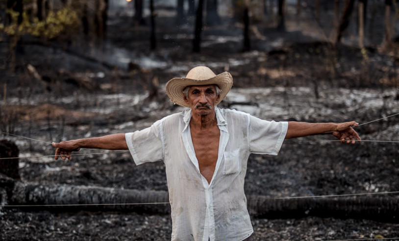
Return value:
<svg viewBox="0 0 399 241">
<path fill-rule="evenodd" d="M 341 142 L 360 141 L 344 123 L 275 122 L 216 105 L 233 84 L 230 73 L 216 75 L 196 67 L 173 78 L 166 93 L 189 109 L 126 134 L 53 144 L 55 154 L 71 158 L 79 148 L 129 149 L 134 162 L 163 160 L 172 207 L 172 240 L 241 241 L 253 232 L 244 193 L 250 153 L 277 155 L 284 139 L 325 132 Z"/>
</svg>

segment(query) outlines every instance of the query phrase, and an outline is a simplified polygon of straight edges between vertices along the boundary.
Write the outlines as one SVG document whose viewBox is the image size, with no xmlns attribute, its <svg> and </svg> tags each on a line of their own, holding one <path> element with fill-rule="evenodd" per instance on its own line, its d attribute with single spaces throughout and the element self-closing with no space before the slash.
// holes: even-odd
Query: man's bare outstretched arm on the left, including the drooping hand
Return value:
<svg viewBox="0 0 399 241">
<path fill-rule="evenodd" d="M 127 150 L 125 134 L 111 134 L 101 137 L 83 138 L 60 143 L 52 143 L 55 149 L 55 160 L 61 156 L 63 160 L 68 158 L 71 160 L 71 153 L 78 151 L 80 148 L 96 148 L 106 150 Z"/>
</svg>

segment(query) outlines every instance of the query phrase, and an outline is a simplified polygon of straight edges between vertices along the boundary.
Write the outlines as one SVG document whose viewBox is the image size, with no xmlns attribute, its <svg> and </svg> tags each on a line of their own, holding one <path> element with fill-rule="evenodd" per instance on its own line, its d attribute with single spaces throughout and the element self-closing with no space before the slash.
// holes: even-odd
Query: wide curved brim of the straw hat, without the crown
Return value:
<svg viewBox="0 0 399 241">
<path fill-rule="evenodd" d="M 178 105 L 191 108 L 189 104 L 184 101 L 183 90 L 187 86 L 192 85 L 217 85 L 221 89 L 220 98 L 216 104 L 219 104 L 233 85 L 233 78 L 229 72 L 223 72 L 215 77 L 205 80 L 190 79 L 190 78 L 173 78 L 166 84 L 166 94 L 169 98 Z"/>
</svg>

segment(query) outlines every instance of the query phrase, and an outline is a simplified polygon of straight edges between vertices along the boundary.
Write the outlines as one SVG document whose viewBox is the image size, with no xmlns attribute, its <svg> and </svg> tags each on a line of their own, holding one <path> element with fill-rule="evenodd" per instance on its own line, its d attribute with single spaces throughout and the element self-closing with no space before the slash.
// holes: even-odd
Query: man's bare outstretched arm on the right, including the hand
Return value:
<svg viewBox="0 0 399 241">
<path fill-rule="evenodd" d="M 353 130 L 352 127 L 358 126 L 356 121 L 343 122 L 343 123 L 307 123 L 289 121 L 288 130 L 285 139 L 304 137 L 316 134 L 331 132 L 342 143 L 352 143 L 360 141 L 359 135 Z"/>
</svg>

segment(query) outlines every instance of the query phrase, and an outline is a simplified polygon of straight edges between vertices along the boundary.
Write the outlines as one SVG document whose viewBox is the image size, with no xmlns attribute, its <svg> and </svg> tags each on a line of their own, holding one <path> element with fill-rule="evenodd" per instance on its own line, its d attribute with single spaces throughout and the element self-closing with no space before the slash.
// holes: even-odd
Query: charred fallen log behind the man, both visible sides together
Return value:
<svg viewBox="0 0 399 241">
<path fill-rule="evenodd" d="M 140 191 L 93 186 L 34 185 L 15 182 L 10 205 L 57 211 L 113 211 L 169 214 L 166 191 Z M 42 206 L 43 205 L 43 206 Z M 399 222 L 398 196 L 343 196 L 273 199 L 248 196 L 249 214 L 259 218 L 308 216 Z"/>
</svg>

